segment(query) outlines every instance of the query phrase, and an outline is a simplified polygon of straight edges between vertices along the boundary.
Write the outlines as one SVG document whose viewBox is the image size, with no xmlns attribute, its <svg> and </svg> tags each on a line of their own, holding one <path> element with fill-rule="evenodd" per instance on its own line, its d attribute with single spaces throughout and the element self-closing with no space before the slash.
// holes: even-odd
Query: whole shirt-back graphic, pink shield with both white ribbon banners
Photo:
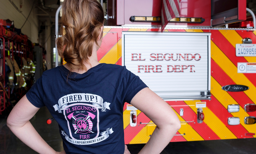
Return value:
<svg viewBox="0 0 256 154">
<path fill-rule="evenodd" d="M 110 103 L 101 96 L 91 93 L 72 93 L 61 97 L 53 107 L 63 113 L 68 125 L 68 134 L 62 130 L 65 139 L 76 145 L 89 145 L 104 141 L 113 133 L 112 128 L 99 132 L 99 109 L 110 110 Z M 100 134 L 99 134 L 100 133 Z"/>
</svg>

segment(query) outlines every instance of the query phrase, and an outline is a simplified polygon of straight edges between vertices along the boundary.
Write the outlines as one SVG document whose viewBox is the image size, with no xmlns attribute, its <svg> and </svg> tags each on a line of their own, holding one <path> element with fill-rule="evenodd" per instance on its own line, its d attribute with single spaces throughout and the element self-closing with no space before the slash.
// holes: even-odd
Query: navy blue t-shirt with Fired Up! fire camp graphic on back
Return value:
<svg viewBox="0 0 256 154">
<path fill-rule="evenodd" d="M 124 103 L 147 86 L 125 66 L 101 63 L 83 74 L 69 72 L 64 66 L 44 71 L 28 100 L 47 106 L 67 154 L 123 154 Z"/>
</svg>

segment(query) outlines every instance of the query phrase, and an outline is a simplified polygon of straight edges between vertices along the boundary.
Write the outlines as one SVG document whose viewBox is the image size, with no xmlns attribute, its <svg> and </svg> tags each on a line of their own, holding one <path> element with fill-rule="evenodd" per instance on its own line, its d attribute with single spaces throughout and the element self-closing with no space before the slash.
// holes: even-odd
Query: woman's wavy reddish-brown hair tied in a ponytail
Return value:
<svg viewBox="0 0 256 154">
<path fill-rule="evenodd" d="M 57 38 L 58 54 L 71 70 L 86 70 L 84 62 L 92 54 L 94 43 L 104 23 L 104 12 L 97 0 L 64 0 L 60 35 Z M 99 45 L 98 45 L 99 46 Z"/>
</svg>

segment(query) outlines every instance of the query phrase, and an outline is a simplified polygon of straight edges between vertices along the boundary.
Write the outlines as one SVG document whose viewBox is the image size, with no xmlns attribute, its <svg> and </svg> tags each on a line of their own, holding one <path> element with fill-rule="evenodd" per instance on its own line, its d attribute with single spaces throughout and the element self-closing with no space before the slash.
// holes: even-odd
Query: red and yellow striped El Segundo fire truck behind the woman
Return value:
<svg viewBox="0 0 256 154">
<path fill-rule="evenodd" d="M 171 141 L 256 137 L 255 15 L 246 0 L 181 0 L 163 33 L 162 0 L 103 2 L 98 60 L 125 65 L 170 104 L 182 124 Z M 123 121 L 125 144 L 146 143 L 156 127 L 130 104 Z"/>
</svg>

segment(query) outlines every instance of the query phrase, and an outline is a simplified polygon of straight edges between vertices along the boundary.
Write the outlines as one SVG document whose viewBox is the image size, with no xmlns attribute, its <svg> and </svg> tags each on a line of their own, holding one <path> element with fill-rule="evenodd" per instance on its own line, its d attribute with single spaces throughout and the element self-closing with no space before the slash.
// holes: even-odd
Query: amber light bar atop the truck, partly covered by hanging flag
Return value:
<svg viewBox="0 0 256 154">
<path fill-rule="evenodd" d="M 161 17 L 131 16 L 131 22 L 161 22 Z M 169 23 L 203 23 L 203 18 L 177 17 L 172 18 Z"/>
</svg>

